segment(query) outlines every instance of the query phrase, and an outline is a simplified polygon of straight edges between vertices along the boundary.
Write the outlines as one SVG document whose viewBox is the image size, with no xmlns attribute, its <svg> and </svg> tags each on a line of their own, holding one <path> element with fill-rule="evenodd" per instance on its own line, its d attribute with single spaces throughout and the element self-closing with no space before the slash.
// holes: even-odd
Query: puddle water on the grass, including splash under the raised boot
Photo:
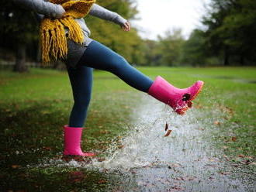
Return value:
<svg viewBox="0 0 256 192">
<path fill-rule="evenodd" d="M 220 111 L 194 108 L 178 116 L 149 96 L 142 101 L 121 149 L 110 148 L 106 160 L 87 164 L 51 159 L 38 166 L 72 166 L 106 175 L 104 189 L 93 191 L 256 191 L 255 174 L 240 171 L 216 149 L 213 136 L 220 131 Z M 172 130 L 168 137 L 166 122 Z"/>
</svg>

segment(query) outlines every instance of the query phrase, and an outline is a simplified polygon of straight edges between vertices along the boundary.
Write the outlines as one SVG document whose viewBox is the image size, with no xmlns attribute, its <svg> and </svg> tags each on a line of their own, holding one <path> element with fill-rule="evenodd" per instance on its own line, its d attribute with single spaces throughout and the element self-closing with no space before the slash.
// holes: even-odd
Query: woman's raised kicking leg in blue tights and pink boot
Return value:
<svg viewBox="0 0 256 192">
<path fill-rule="evenodd" d="M 99 70 L 108 70 L 137 90 L 144 91 L 159 101 L 170 105 L 178 114 L 183 115 L 192 107 L 194 100 L 202 90 L 203 82 L 197 81 L 191 87 L 179 89 L 157 77 L 155 81 L 130 66 L 119 54 L 97 41 L 89 44 L 78 62 L 78 66 L 87 66 Z"/>
</svg>

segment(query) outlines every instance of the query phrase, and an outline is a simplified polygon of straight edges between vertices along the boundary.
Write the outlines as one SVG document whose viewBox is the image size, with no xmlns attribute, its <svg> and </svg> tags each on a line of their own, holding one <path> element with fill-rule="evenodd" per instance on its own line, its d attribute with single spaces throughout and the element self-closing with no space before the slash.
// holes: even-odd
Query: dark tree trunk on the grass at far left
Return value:
<svg viewBox="0 0 256 192">
<path fill-rule="evenodd" d="M 16 64 L 13 68 L 13 71 L 23 73 L 28 71 L 26 67 L 26 44 L 18 43 L 16 50 Z"/>
</svg>

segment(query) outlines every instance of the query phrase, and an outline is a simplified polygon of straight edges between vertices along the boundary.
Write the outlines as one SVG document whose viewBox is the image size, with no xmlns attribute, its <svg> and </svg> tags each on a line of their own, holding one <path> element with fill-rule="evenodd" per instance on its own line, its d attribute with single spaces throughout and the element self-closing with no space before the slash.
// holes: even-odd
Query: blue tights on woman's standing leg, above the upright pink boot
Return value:
<svg viewBox="0 0 256 192">
<path fill-rule="evenodd" d="M 69 127 L 83 127 L 87 116 L 92 92 L 92 68 L 79 66 L 67 69 L 71 81 L 74 106 L 71 111 Z"/>
</svg>

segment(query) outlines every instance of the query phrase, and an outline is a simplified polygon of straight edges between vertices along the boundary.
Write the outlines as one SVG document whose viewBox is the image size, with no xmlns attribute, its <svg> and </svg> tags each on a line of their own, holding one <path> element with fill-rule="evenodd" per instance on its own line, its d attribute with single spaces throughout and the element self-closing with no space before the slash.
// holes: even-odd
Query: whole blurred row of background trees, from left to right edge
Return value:
<svg viewBox="0 0 256 192">
<path fill-rule="evenodd" d="M 125 19 L 136 18 L 138 0 L 98 0 L 97 3 Z M 124 33 L 120 26 L 88 15 L 92 38 L 109 46 L 130 63 L 147 66 L 207 66 L 256 64 L 256 1 L 212 0 L 202 18 L 203 29 L 185 39 L 181 29 L 167 31 L 157 39 L 141 39 L 137 29 Z M 0 2 L 0 46 L 16 50 L 15 70 L 26 70 L 25 56 L 38 58 L 38 22 L 32 12 Z M 27 49 L 26 49 L 27 48 Z M 26 54 L 25 54 L 26 50 Z"/>
</svg>

